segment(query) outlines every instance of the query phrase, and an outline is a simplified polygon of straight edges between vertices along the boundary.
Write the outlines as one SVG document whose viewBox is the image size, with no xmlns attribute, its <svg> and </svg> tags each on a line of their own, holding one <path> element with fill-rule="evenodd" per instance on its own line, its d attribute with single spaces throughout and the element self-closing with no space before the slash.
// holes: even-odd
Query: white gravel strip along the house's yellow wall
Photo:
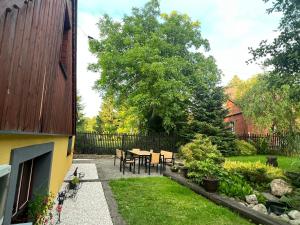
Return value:
<svg viewBox="0 0 300 225">
<path fill-rule="evenodd" d="M 61 225 L 113 225 L 103 187 L 99 181 L 97 168 L 91 164 L 73 164 L 66 175 L 66 180 L 70 180 L 74 170 L 78 167 L 78 172 L 84 172 L 81 187 L 75 198 L 67 198 L 64 201 L 61 212 Z M 65 189 L 67 183 L 63 183 L 61 191 Z M 58 221 L 56 212 L 57 201 L 53 208 L 55 222 Z"/>
</svg>

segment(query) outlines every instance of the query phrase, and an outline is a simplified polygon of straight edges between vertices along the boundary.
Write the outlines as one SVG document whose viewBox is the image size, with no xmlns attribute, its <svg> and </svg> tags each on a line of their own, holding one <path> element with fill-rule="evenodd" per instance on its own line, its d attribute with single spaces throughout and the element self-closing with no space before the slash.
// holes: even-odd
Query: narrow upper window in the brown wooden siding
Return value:
<svg viewBox="0 0 300 225">
<path fill-rule="evenodd" d="M 64 75 L 64 78 L 68 78 L 68 60 L 69 60 L 69 50 L 70 50 L 70 30 L 71 30 L 71 22 L 68 13 L 68 8 L 65 8 L 65 19 L 64 19 L 64 31 L 63 31 L 63 39 L 60 48 L 60 59 L 59 59 L 59 67 Z"/>
</svg>

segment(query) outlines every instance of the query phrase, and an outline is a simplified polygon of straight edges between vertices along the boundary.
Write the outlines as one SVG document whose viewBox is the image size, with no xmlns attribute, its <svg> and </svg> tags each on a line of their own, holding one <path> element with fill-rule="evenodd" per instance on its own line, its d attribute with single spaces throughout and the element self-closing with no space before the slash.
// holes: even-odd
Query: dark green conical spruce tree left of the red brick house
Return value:
<svg viewBox="0 0 300 225">
<path fill-rule="evenodd" d="M 213 59 L 211 59 L 213 60 Z M 197 133 L 208 136 L 223 154 L 236 153 L 235 135 L 229 131 L 224 118 L 226 96 L 220 86 L 221 72 L 214 63 L 199 64 L 192 86 L 189 104 L 189 121 L 183 129 L 183 136 L 193 139 Z"/>
</svg>

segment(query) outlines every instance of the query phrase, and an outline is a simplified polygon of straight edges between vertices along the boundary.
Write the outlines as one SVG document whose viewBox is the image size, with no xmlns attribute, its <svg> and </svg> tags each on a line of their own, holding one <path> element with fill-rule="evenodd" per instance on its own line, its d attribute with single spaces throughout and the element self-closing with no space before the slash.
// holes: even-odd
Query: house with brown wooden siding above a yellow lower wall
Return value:
<svg viewBox="0 0 300 225">
<path fill-rule="evenodd" d="M 72 163 L 77 0 L 0 0 L 0 225 Z"/>
</svg>

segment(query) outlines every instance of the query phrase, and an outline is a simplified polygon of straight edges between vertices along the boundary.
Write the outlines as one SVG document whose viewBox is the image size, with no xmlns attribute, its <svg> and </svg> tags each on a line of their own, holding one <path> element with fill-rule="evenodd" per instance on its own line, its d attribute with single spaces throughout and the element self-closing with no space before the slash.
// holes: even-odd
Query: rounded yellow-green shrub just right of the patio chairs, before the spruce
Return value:
<svg viewBox="0 0 300 225">
<path fill-rule="evenodd" d="M 206 159 L 211 159 L 215 163 L 224 162 L 224 158 L 218 151 L 217 146 L 213 145 L 208 137 L 201 134 L 197 134 L 192 142 L 182 146 L 180 152 L 186 162 Z"/>
</svg>

